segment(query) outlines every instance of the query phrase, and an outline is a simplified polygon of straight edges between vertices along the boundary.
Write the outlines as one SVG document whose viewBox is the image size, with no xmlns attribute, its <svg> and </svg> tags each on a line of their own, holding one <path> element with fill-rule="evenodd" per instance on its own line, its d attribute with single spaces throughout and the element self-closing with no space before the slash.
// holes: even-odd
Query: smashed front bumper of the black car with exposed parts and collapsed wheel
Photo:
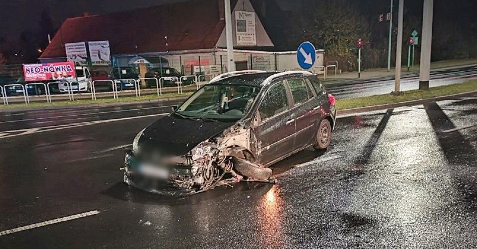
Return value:
<svg viewBox="0 0 477 249">
<path fill-rule="evenodd" d="M 271 178 L 271 169 L 232 156 L 235 155 L 232 150 L 229 151 L 231 154 L 218 155 L 209 145 L 207 143 L 201 153 L 196 151 L 194 156 L 179 157 L 175 163 L 164 165 L 142 162 L 132 150 L 127 150 L 123 180 L 135 188 L 171 196 L 193 195 L 239 181 L 276 183 L 276 179 Z M 201 157 L 195 157 L 198 154 Z"/>
</svg>

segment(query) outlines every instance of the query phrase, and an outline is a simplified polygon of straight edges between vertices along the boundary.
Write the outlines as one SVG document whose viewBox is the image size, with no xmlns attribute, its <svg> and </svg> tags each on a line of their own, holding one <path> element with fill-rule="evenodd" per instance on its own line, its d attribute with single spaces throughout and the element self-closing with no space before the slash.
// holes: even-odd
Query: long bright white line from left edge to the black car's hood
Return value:
<svg viewBox="0 0 477 249">
<path fill-rule="evenodd" d="M 48 131 L 62 130 L 62 129 L 68 129 L 68 128 L 75 128 L 75 127 L 82 127 L 82 126 L 98 125 L 100 123 L 117 122 L 117 121 L 124 121 L 124 120 L 131 120 L 131 119 L 138 119 L 138 118 L 145 118 L 145 117 L 164 116 L 164 115 L 168 115 L 168 114 L 169 113 L 160 113 L 160 114 L 152 114 L 152 115 L 146 115 L 146 116 L 134 116 L 134 117 L 123 117 L 123 118 L 106 119 L 106 120 L 81 122 L 81 123 L 69 123 L 67 125 L 45 126 L 45 127 L 38 127 L 38 128 L 28 128 L 28 129 L 19 129 L 19 130 L 11 130 L 11 131 L 2 131 L 4 133 L 12 133 L 12 132 L 20 132 L 20 133 L 5 135 L 5 136 L 0 137 L 0 139 L 22 136 L 22 135 L 33 134 L 33 133 L 40 133 L 40 132 L 48 132 Z"/>
</svg>

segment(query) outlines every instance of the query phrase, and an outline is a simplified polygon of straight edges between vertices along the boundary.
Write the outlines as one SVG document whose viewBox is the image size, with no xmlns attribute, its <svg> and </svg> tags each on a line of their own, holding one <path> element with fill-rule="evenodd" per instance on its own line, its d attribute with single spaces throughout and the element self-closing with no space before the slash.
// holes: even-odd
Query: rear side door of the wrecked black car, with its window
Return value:
<svg viewBox="0 0 477 249">
<path fill-rule="evenodd" d="M 294 150 L 301 149 L 310 144 L 316 137 L 316 129 L 320 119 L 319 104 L 315 93 L 303 77 L 287 80 L 293 99 L 292 112 L 296 120 L 296 134 L 293 145 Z"/>
</svg>

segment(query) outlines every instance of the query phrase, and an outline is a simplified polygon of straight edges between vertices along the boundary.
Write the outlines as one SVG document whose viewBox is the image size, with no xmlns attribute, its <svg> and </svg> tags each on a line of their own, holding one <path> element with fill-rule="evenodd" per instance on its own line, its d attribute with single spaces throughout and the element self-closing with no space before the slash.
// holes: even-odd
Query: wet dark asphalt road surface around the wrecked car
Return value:
<svg viewBox="0 0 477 249">
<path fill-rule="evenodd" d="M 122 183 L 121 148 L 170 107 L 122 108 L 0 113 L 0 248 L 477 246 L 477 95 L 340 118 L 328 151 L 273 166 L 277 184 L 187 198 Z"/>
</svg>

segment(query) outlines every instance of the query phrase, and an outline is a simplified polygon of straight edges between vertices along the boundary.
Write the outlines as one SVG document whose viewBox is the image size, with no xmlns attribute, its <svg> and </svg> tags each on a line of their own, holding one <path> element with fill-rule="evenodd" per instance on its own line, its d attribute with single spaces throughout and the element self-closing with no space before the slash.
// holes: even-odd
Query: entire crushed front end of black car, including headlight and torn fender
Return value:
<svg viewBox="0 0 477 249">
<path fill-rule="evenodd" d="M 157 145 L 133 143 L 133 150 L 126 150 L 124 182 L 151 193 L 175 196 L 196 194 L 241 180 L 273 183 L 271 169 L 254 162 L 241 150 L 243 147 L 230 143 L 239 142 L 246 130 L 231 132 L 233 129 L 199 143 L 180 156 L 164 153 L 165 148 L 161 150 Z"/>
</svg>

